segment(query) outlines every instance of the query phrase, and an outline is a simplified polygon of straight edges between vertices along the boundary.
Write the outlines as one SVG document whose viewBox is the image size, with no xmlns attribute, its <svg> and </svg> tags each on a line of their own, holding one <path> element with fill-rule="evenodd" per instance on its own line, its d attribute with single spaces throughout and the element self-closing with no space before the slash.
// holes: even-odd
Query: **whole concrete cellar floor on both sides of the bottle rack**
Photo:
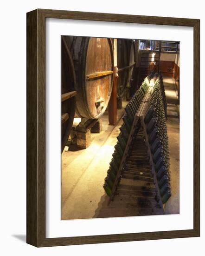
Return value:
<svg viewBox="0 0 205 256">
<path fill-rule="evenodd" d="M 174 84 L 171 78 L 165 78 L 164 84 L 168 102 L 167 131 L 169 137 L 171 162 L 172 196 L 166 204 L 166 214 L 179 213 L 179 118 Z M 127 102 L 123 102 L 124 106 Z M 116 216 L 115 206 L 108 209 L 108 196 L 102 185 L 111 161 L 116 136 L 122 125 L 124 109 L 118 110 L 117 125 L 109 126 L 108 114 L 102 116 L 102 132 L 91 134 L 92 143 L 87 149 L 75 149 L 62 154 L 62 205 L 61 218 L 88 219 L 96 217 Z M 135 181 L 133 181 L 135 182 Z M 143 185 L 143 184 L 142 184 Z M 135 216 L 136 209 L 117 208 L 117 216 Z M 149 213 L 147 212 L 147 215 Z M 155 214 L 161 214 L 159 211 Z"/>
</svg>

